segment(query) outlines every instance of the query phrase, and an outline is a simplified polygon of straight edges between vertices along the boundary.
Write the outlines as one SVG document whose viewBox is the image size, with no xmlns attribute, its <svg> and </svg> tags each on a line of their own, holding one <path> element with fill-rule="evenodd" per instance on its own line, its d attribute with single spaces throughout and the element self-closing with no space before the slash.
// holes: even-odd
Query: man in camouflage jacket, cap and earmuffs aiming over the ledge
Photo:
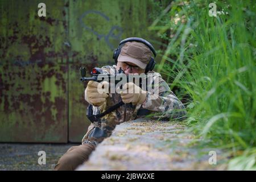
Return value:
<svg viewBox="0 0 256 182">
<path fill-rule="evenodd" d="M 134 82 L 127 82 L 119 93 L 102 93 L 99 92 L 98 88 L 104 85 L 103 82 L 89 81 L 85 89 L 85 101 L 92 105 L 93 114 L 102 113 L 102 111 L 109 109 L 120 101 L 123 101 L 125 105 L 104 115 L 100 118 L 100 121 L 92 122 L 82 139 L 82 144 L 69 148 L 61 156 L 55 170 L 76 169 L 77 166 L 88 160 L 95 147 L 102 140 L 109 137 L 119 123 L 131 121 L 151 113 L 156 115 L 161 113 L 164 118 L 168 119 L 182 119 L 185 117 L 184 105 L 170 90 L 160 74 L 152 71 L 155 61 L 151 53 L 156 56 L 154 47 L 144 39 L 127 38 L 120 42 L 113 55 L 116 65 L 102 67 L 102 71 L 115 75 L 118 68 L 121 67 L 125 75 L 153 74 L 151 88 L 153 87 L 154 90 L 143 90 Z M 128 90 L 131 88 L 137 92 L 129 92 Z M 158 92 L 155 92 L 155 90 Z"/>
</svg>

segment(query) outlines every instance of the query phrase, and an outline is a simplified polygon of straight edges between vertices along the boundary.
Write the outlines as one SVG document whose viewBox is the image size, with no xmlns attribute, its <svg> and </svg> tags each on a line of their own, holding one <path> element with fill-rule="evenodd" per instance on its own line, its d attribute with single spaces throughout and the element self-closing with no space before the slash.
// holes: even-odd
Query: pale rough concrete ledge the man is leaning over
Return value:
<svg viewBox="0 0 256 182">
<path fill-rule="evenodd" d="M 138 120 L 118 125 L 77 170 L 223 170 L 221 152 L 191 144 L 179 122 Z M 210 165 L 209 151 L 218 165 Z"/>
</svg>

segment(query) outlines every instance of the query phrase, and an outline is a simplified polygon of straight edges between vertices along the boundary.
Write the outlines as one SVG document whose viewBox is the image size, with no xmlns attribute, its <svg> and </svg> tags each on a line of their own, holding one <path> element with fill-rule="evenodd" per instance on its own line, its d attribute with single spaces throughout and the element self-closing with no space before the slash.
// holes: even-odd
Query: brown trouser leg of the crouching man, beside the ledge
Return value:
<svg viewBox="0 0 256 182">
<path fill-rule="evenodd" d="M 73 171 L 80 164 L 88 160 L 89 155 L 95 150 L 93 144 L 81 144 L 73 146 L 61 156 L 59 162 L 55 165 L 55 170 L 58 171 Z"/>
</svg>

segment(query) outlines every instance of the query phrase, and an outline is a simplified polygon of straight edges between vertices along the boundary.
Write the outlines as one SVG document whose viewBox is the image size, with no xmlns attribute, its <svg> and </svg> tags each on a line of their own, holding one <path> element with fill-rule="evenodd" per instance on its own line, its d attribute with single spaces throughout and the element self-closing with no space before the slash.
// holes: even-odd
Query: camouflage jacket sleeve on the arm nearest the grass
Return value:
<svg viewBox="0 0 256 182">
<path fill-rule="evenodd" d="M 155 80 L 154 80 L 155 81 Z M 157 82 L 152 82 L 154 88 L 158 86 L 158 93 L 155 90 L 147 92 L 146 100 L 143 102 L 144 109 L 159 112 L 163 117 L 172 119 L 184 119 L 187 114 L 185 106 L 171 91 L 167 83 L 159 77 Z"/>
</svg>

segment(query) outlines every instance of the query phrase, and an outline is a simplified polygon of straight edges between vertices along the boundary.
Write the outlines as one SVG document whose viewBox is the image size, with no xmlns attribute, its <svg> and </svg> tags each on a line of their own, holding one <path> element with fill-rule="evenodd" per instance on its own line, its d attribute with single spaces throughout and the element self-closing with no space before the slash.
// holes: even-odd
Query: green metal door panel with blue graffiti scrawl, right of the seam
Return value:
<svg viewBox="0 0 256 182">
<path fill-rule="evenodd" d="M 156 36 L 147 30 L 150 1 L 69 1 L 69 140 L 81 142 L 90 124 L 79 67 L 88 73 L 93 67 L 113 65 L 113 49 L 120 40 L 137 36 L 147 40 Z"/>
</svg>

